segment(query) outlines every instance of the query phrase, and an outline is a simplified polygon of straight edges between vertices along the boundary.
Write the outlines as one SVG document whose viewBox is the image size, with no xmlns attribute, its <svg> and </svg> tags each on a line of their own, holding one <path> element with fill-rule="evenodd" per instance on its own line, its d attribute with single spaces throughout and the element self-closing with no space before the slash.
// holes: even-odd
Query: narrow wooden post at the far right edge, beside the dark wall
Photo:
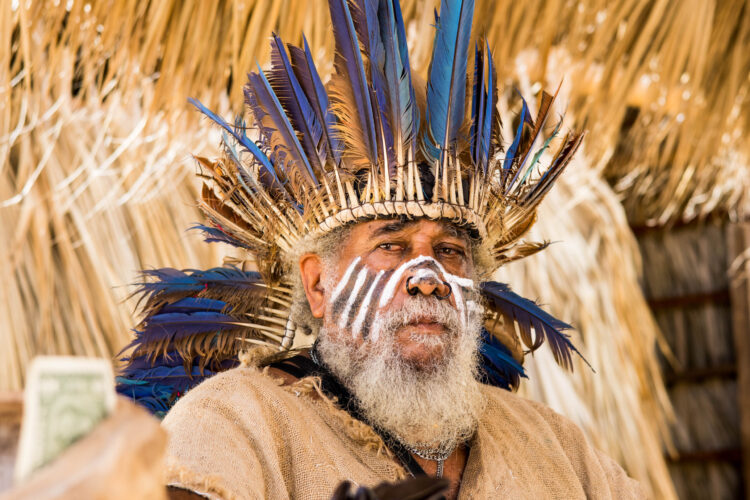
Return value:
<svg viewBox="0 0 750 500">
<path fill-rule="evenodd" d="M 745 498 L 750 498 L 750 222 L 727 226 L 729 297 L 737 353 L 737 397 Z"/>
</svg>

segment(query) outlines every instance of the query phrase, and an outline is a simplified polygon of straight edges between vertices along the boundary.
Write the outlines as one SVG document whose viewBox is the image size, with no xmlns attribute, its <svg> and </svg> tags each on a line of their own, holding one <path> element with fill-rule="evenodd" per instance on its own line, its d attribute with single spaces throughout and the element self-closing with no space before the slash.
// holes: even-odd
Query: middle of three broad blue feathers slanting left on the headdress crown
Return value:
<svg viewBox="0 0 750 500">
<path fill-rule="evenodd" d="M 272 34 L 271 62 L 273 64 L 269 76 L 271 87 L 291 118 L 292 125 L 299 131 L 307 159 L 314 169 L 323 172 L 326 162 L 323 126 L 318 121 L 315 110 L 294 74 L 292 63 L 287 57 L 281 38 L 275 33 Z"/>
</svg>

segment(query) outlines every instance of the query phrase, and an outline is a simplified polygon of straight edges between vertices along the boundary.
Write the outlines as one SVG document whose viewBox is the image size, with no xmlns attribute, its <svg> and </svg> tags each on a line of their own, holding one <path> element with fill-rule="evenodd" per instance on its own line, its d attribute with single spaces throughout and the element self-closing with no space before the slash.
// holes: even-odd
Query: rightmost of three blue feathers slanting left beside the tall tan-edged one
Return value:
<svg viewBox="0 0 750 500">
<path fill-rule="evenodd" d="M 334 164 L 338 166 L 341 163 L 342 147 L 335 128 L 337 124 L 336 115 L 331 111 L 328 102 L 328 93 L 315 67 L 310 47 L 307 45 L 307 39 L 304 35 L 302 36 L 302 42 L 304 50 L 299 47 L 289 46 L 292 68 L 305 91 L 305 95 L 307 95 L 310 105 L 315 110 L 318 122 L 322 125 L 328 155 L 333 158 Z"/>
</svg>

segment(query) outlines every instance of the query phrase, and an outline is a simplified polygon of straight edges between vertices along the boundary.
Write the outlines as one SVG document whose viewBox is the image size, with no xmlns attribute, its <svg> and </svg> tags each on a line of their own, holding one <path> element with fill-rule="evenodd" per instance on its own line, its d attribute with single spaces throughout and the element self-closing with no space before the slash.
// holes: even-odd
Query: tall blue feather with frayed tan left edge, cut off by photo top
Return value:
<svg viewBox="0 0 750 500">
<path fill-rule="evenodd" d="M 328 8 L 336 41 L 334 66 L 336 72 L 347 82 L 356 106 L 352 114 L 359 120 L 358 124 L 351 124 L 351 126 L 360 127 L 370 164 L 377 165 L 378 144 L 375 116 L 354 21 L 346 0 L 330 0 Z"/>
</svg>

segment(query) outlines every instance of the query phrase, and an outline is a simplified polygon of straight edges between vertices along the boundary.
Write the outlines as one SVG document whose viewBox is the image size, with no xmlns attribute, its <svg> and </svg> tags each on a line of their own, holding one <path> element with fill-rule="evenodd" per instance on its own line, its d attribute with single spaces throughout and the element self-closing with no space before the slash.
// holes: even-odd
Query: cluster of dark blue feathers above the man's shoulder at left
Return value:
<svg viewBox="0 0 750 500">
<path fill-rule="evenodd" d="M 127 364 L 117 378 L 117 390 L 163 416 L 185 391 L 238 363 L 234 356 L 227 358 L 226 352 L 207 359 L 196 356 L 195 349 L 179 347 L 181 339 L 216 333 L 208 339 L 213 346 L 226 340 L 221 332 L 241 327 L 230 314 L 230 304 L 196 294 L 233 297 L 248 292 L 264 294 L 266 288 L 259 273 L 230 267 L 206 271 L 155 269 L 144 271 L 143 276 L 156 281 L 142 282 L 136 291 L 141 300 L 147 300 L 148 314 L 133 342 L 123 349 L 135 348 L 123 359 Z M 234 337 L 231 332 L 229 335 Z"/>
</svg>

